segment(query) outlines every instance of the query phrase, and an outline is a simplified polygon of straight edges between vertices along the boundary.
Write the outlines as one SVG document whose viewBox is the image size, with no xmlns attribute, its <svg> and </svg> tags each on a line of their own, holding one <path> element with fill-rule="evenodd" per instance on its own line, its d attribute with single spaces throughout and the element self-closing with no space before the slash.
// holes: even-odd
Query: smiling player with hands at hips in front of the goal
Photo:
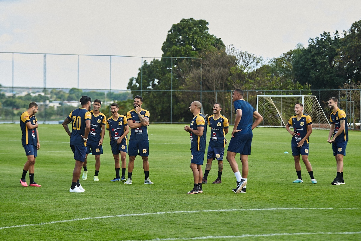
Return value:
<svg viewBox="0 0 361 241">
<path fill-rule="evenodd" d="M 308 174 L 310 175 L 311 182 L 317 183 L 316 179 L 313 177 L 311 163 L 308 160 L 308 138 L 312 133 L 311 116 L 303 113 L 303 104 L 301 103 L 295 104 L 295 114 L 296 115 L 291 116 L 286 125 L 286 130 L 292 135 L 292 156 L 295 160 L 295 168 L 297 173 L 297 179 L 293 182 L 303 182 L 300 165 L 301 155 L 303 163 L 305 163 Z M 290 126 L 293 126 L 293 132 L 290 130 Z"/>
</svg>

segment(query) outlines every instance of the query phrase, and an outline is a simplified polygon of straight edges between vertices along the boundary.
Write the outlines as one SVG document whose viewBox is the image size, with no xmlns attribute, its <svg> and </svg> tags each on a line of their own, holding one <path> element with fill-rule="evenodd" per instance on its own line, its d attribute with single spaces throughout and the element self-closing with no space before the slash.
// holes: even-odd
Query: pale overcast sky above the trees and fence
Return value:
<svg viewBox="0 0 361 241">
<path fill-rule="evenodd" d="M 0 52 L 162 55 L 172 24 L 204 19 L 209 33 L 265 59 L 349 29 L 361 1 L 0 0 Z M 143 59 L 148 62 L 152 59 Z M 77 87 L 78 57 L 47 55 L 47 87 Z M 112 57 L 112 89 L 126 89 L 139 58 Z M 14 54 L 14 86 L 43 87 L 43 55 Z M 12 85 L 12 54 L 0 53 L 0 84 Z M 109 89 L 109 57 L 79 57 L 79 87 Z"/>
</svg>

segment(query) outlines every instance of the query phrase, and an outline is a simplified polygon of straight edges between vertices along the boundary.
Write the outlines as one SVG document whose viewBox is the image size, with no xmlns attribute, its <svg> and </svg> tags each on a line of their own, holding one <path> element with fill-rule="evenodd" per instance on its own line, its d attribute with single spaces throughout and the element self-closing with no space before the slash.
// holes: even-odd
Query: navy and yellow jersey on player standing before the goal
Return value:
<svg viewBox="0 0 361 241">
<path fill-rule="evenodd" d="M 295 136 L 292 137 L 292 143 L 296 144 L 305 138 L 307 134 L 307 126 L 312 124 L 311 116 L 302 114 L 300 119 L 297 115 L 291 116 L 288 120 L 288 125 L 293 126 L 293 131 L 297 132 Z M 306 143 L 309 142 L 309 138 L 306 139 Z"/>
</svg>

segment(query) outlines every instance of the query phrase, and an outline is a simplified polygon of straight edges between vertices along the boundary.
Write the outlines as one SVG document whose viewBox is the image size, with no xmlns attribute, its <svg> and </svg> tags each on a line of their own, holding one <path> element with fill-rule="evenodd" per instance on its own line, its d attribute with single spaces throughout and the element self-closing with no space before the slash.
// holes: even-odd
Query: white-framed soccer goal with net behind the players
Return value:
<svg viewBox="0 0 361 241">
<path fill-rule="evenodd" d="M 260 126 L 283 127 L 295 115 L 295 103 L 312 118 L 312 128 L 329 129 L 330 123 L 314 95 L 257 95 L 257 111 L 263 116 Z"/>
</svg>

